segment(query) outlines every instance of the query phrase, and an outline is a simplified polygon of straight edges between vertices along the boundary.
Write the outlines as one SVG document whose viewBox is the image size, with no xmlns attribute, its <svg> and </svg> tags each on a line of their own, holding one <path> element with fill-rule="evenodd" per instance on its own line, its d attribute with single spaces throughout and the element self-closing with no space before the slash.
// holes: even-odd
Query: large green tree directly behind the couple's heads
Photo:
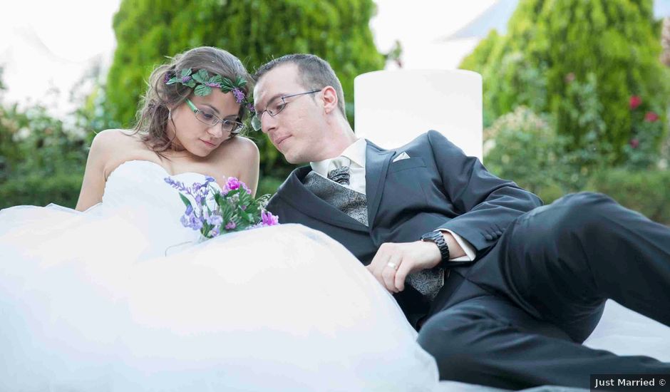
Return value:
<svg viewBox="0 0 670 392">
<path fill-rule="evenodd" d="M 153 67 L 204 45 L 239 56 L 249 71 L 288 53 L 326 58 L 341 78 L 346 107 L 353 108 L 354 78 L 384 66 L 369 27 L 374 12 L 372 0 L 123 0 L 113 20 L 117 47 L 106 83 L 108 111 L 131 125 Z M 264 135 L 256 142 L 263 175 L 293 167 Z"/>
</svg>

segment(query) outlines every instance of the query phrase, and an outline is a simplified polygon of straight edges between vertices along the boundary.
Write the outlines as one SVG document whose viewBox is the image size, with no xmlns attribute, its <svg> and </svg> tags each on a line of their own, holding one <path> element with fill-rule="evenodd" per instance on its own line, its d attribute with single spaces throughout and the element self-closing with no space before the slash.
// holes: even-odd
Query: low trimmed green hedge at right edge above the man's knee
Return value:
<svg viewBox="0 0 670 392">
<path fill-rule="evenodd" d="M 594 175 L 588 190 L 602 192 L 649 219 L 670 225 L 670 170 L 603 170 Z"/>
</svg>

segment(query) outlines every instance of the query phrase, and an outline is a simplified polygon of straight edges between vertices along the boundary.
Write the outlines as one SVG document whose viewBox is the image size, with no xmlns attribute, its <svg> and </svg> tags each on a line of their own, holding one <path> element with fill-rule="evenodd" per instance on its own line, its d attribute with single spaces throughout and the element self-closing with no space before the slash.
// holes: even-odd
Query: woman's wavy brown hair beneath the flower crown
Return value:
<svg viewBox="0 0 670 392">
<path fill-rule="evenodd" d="M 140 103 L 137 120 L 133 130 L 139 133 L 148 148 L 163 156 L 165 150 L 175 147 L 173 138 L 168 136 L 170 108 L 176 108 L 189 98 L 193 88 L 181 83 L 165 84 L 169 78 L 182 69 L 191 68 L 193 73 L 204 69 L 211 74 L 220 75 L 234 81 L 239 76 L 247 81 L 240 88 L 244 96 L 253 90 L 253 79 L 242 65 L 242 61 L 220 48 L 200 46 L 171 58 L 170 63 L 156 67 L 149 77 L 148 88 Z M 239 105 L 238 121 L 247 115 L 247 106 Z"/>
</svg>

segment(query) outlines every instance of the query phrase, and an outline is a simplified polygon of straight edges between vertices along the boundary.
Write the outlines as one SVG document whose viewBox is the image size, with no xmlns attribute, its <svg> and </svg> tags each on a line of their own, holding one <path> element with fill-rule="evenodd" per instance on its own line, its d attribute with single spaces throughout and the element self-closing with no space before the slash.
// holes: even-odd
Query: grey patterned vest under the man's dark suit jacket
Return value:
<svg viewBox="0 0 670 392">
<path fill-rule="evenodd" d="M 328 202 L 362 224 L 368 225 L 368 202 L 365 195 L 327 180 L 316 172 L 307 173 L 304 185 L 321 200 Z M 444 284 L 444 269 L 424 269 L 413 272 L 407 276 L 406 282 L 432 301 Z"/>
</svg>

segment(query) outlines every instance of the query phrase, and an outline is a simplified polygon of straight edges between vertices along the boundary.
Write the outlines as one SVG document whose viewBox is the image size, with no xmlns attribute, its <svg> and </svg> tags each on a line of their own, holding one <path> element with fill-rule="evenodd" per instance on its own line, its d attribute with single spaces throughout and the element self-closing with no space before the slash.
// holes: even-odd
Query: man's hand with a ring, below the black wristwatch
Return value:
<svg viewBox="0 0 670 392">
<path fill-rule="evenodd" d="M 398 293 L 405 289 L 408 274 L 433 268 L 441 259 L 433 242 L 386 242 L 366 268 L 389 292 Z"/>
</svg>

